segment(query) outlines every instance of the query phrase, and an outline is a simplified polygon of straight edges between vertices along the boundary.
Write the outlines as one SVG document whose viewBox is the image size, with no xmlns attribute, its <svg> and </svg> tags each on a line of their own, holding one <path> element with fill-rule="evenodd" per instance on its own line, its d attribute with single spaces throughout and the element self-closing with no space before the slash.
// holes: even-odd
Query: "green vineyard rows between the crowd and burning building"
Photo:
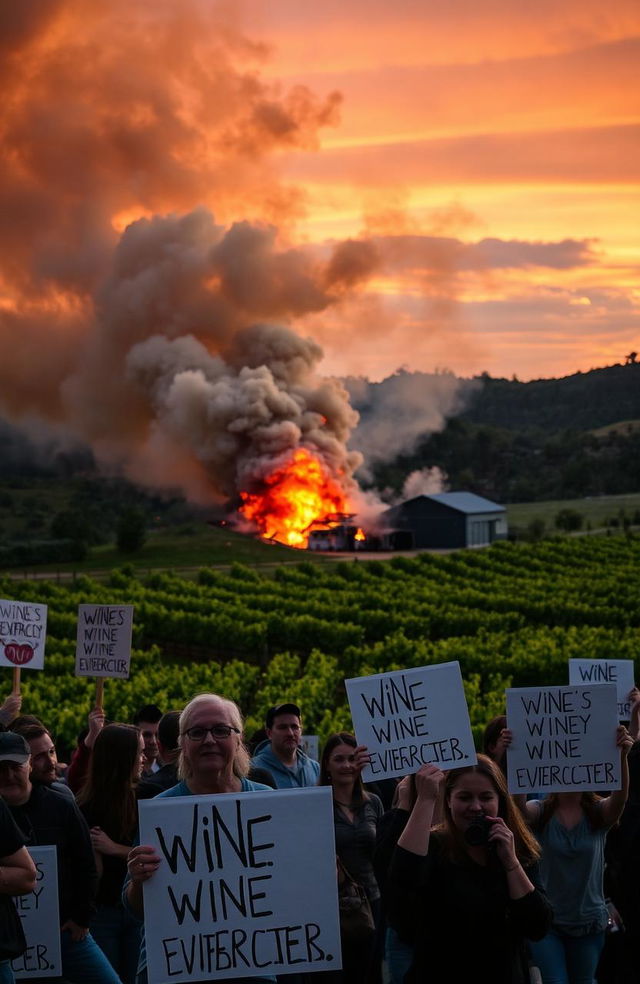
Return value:
<svg viewBox="0 0 640 984">
<path fill-rule="evenodd" d="M 350 728 L 344 679 L 458 660 L 476 738 L 504 690 L 567 682 L 572 657 L 635 659 L 640 541 L 498 543 L 481 551 L 311 564 L 272 574 L 236 564 L 197 581 L 118 570 L 97 583 L 0 580 L 0 596 L 48 605 L 45 670 L 22 674 L 23 710 L 73 743 L 93 682 L 73 675 L 77 607 L 133 604 L 131 678 L 107 680 L 105 710 L 180 708 L 194 693 L 235 699 L 247 732 L 266 708 L 299 702 L 304 729 Z M 5 670 L 6 691 L 10 671 Z"/>
</svg>

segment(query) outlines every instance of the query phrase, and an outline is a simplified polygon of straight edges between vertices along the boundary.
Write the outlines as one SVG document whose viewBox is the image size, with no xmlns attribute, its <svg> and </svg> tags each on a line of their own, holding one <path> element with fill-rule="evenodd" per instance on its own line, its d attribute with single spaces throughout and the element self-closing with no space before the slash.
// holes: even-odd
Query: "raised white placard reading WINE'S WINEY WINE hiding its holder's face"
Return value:
<svg viewBox="0 0 640 984">
<path fill-rule="evenodd" d="M 519 687 L 506 696 L 510 792 L 620 789 L 614 684 Z"/>
</svg>

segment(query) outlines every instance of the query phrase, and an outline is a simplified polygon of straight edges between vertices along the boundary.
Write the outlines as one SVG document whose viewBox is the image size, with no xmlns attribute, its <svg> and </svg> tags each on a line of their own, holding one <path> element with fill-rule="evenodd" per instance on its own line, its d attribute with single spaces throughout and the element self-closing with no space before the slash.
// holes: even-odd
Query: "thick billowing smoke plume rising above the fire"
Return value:
<svg viewBox="0 0 640 984">
<path fill-rule="evenodd" d="M 341 97 L 265 83 L 266 52 L 230 11 L 212 0 L 0 9 L 0 410 L 201 502 L 251 491 L 306 446 L 354 501 L 357 414 L 293 329 L 339 310 L 380 251 L 366 239 L 323 255 L 291 245 L 304 199 L 270 160 L 315 147 Z M 374 416 L 360 431 L 372 460 L 386 440 Z M 406 447 L 411 425 L 391 426 Z"/>
</svg>

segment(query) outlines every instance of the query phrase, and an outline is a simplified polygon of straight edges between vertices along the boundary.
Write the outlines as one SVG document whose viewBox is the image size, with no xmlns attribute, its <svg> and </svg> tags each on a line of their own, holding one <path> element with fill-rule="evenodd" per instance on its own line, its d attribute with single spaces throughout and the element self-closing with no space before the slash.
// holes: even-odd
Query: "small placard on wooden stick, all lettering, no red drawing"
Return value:
<svg viewBox="0 0 640 984">
<path fill-rule="evenodd" d="M 78 605 L 76 676 L 129 676 L 133 605 Z"/>
</svg>

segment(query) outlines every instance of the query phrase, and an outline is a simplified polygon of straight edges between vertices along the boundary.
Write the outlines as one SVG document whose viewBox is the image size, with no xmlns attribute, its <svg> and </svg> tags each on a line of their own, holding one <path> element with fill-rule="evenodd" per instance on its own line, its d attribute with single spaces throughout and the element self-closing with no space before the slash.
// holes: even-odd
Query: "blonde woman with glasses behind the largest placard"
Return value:
<svg viewBox="0 0 640 984">
<path fill-rule="evenodd" d="M 270 792 L 271 787 L 247 778 L 249 753 L 242 740 L 242 716 L 236 704 L 217 694 L 198 694 L 180 715 L 178 783 L 156 799 L 172 796 L 210 796 L 217 793 Z M 153 878 L 160 857 L 149 845 L 130 852 L 124 899 L 132 912 L 143 916 L 142 886 Z M 229 980 L 227 978 L 227 980 Z M 229 984 L 244 984 L 236 978 Z M 273 982 L 274 977 L 253 977 L 252 982 Z M 136 984 L 147 984 L 144 939 Z"/>
</svg>

